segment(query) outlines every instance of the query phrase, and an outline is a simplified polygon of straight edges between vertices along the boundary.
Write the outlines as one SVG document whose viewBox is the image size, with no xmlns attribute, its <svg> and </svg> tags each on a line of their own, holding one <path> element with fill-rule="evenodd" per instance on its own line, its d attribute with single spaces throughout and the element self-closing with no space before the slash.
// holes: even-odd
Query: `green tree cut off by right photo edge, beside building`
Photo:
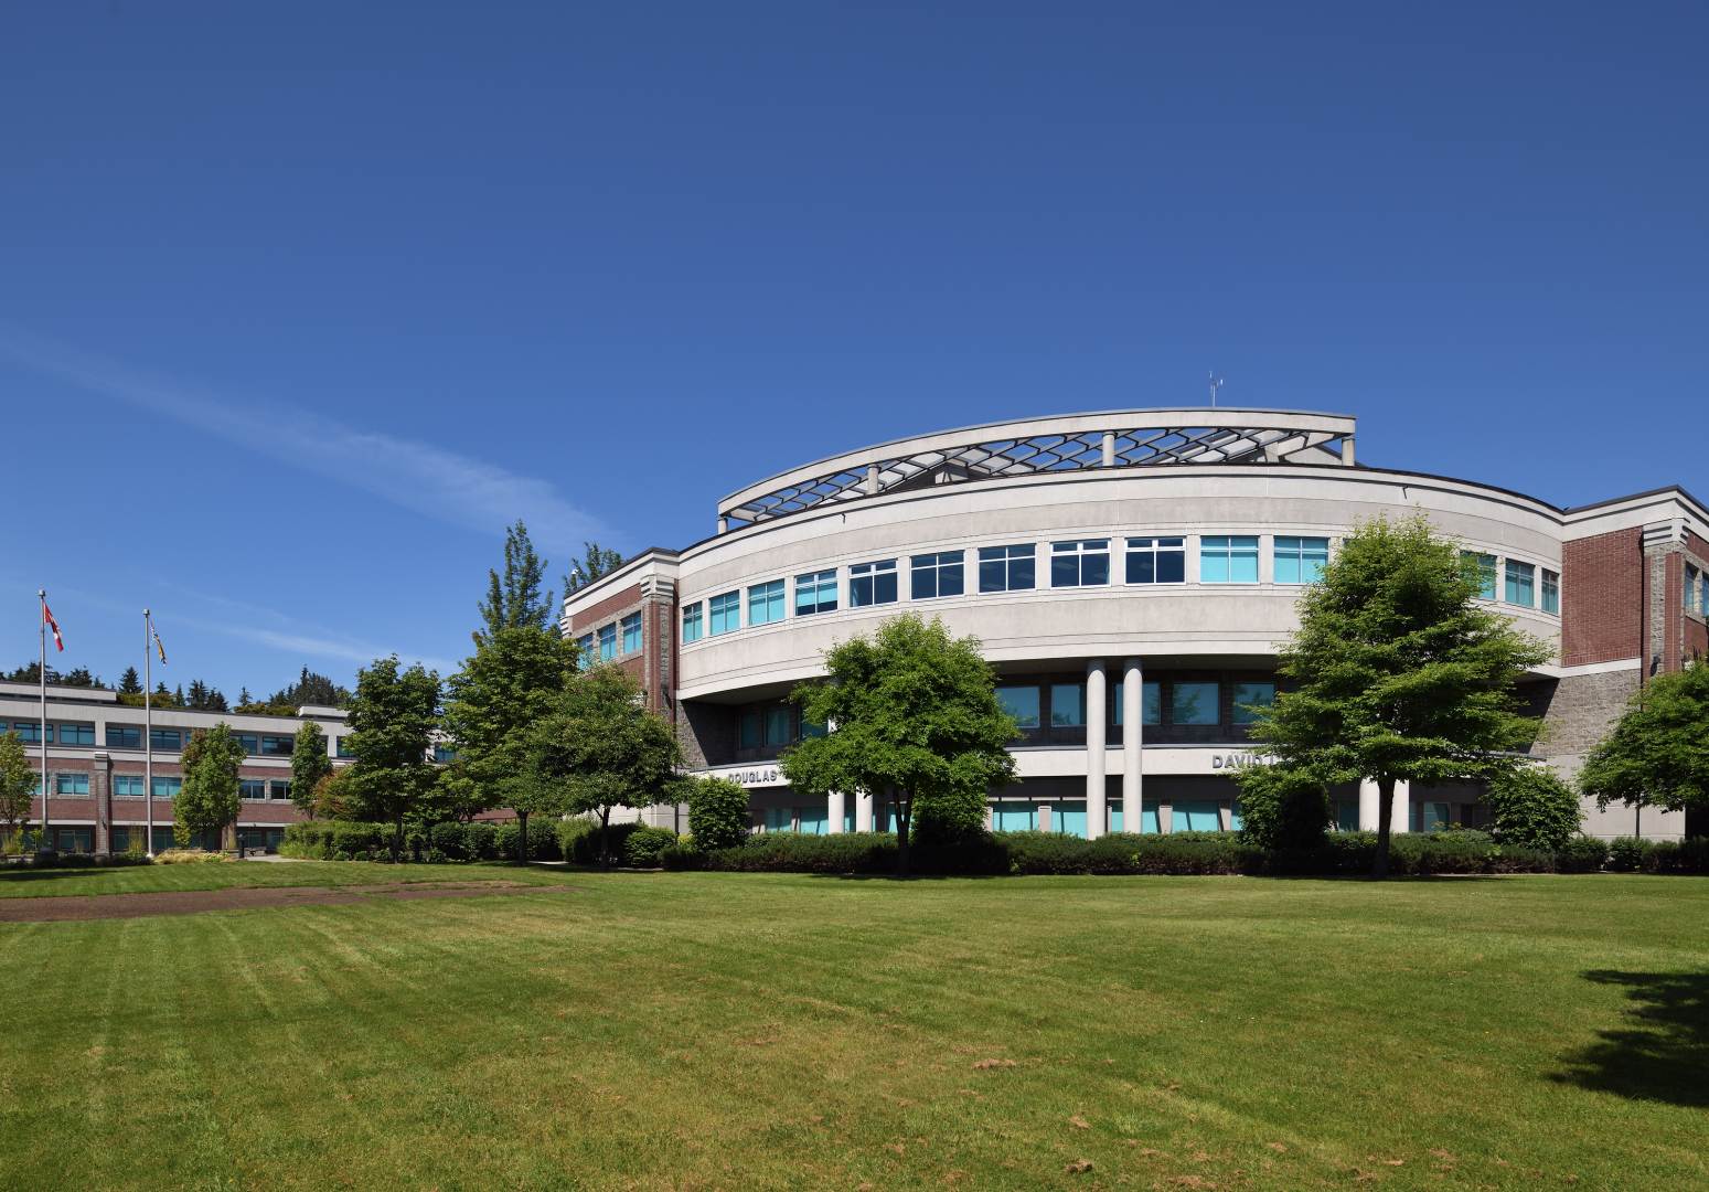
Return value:
<svg viewBox="0 0 1709 1192">
<path fill-rule="evenodd" d="M 1709 807 L 1709 662 L 1651 679 L 1579 771 L 1598 807 Z"/>
</svg>

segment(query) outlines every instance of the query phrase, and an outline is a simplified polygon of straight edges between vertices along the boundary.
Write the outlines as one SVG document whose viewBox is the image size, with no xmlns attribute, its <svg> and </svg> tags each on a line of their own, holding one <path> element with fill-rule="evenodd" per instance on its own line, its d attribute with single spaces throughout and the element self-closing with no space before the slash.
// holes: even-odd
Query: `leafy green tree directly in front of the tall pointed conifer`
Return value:
<svg viewBox="0 0 1709 1192">
<path fill-rule="evenodd" d="M 576 679 L 576 645 L 540 624 L 475 634 L 475 653 L 446 684 L 444 725 L 456 744 L 460 778 L 477 809 L 509 807 L 521 821 L 518 860 L 528 860 L 528 816 L 550 812 L 557 794 L 528 768 L 533 725 L 549 717 Z"/>
</svg>

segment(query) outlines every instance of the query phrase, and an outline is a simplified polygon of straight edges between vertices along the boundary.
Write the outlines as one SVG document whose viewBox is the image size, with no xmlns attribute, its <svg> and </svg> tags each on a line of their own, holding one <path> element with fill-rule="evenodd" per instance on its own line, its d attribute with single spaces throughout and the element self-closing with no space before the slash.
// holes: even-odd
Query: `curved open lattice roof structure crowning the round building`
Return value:
<svg viewBox="0 0 1709 1192">
<path fill-rule="evenodd" d="M 1169 463 L 1354 463 L 1355 419 L 1307 410 L 1179 407 L 1061 414 L 916 434 L 832 455 L 731 493 L 719 528 L 930 484 Z"/>
</svg>

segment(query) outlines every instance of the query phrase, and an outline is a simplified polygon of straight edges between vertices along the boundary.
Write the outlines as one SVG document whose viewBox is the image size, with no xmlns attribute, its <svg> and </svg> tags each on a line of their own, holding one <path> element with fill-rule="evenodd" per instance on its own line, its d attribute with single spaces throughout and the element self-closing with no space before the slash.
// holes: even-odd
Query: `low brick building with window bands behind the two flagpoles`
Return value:
<svg viewBox="0 0 1709 1192">
<path fill-rule="evenodd" d="M 236 711 L 152 710 L 154 850 L 173 847 L 173 797 L 183 785 L 179 759 L 190 734 L 224 722 L 248 758 L 239 773 L 238 840 L 246 848 L 273 850 L 285 824 L 302 819 L 291 802 L 291 754 L 296 734 L 314 720 L 332 756 L 347 758 L 338 708 L 299 708 L 296 717 Z M 0 730 L 15 732 L 41 771 L 41 687 L 0 682 Z M 60 852 L 125 852 L 147 838 L 144 795 L 145 749 L 142 706 L 121 703 L 116 691 L 48 684 L 48 824 Z M 337 764 L 337 763 L 335 763 Z M 31 828 L 41 826 L 41 785 L 31 805 Z M 217 840 L 195 841 L 219 848 Z"/>
</svg>

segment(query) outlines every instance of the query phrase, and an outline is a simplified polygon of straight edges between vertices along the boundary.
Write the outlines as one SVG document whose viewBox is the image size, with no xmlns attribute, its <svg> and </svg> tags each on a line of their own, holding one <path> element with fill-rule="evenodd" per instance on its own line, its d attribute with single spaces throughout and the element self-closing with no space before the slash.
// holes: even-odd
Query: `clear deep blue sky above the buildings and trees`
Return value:
<svg viewBox="0 0 1709 1192">
<path fill-rule="evenodd" d="M 930 7 L 930 12 L 926 10 Z M 0 664 L 272 691 L 843 448 L 1198 402 L 1709 496 L 1702 5 L 17 5 Z M 10 626 L 10 628 L 5 628 Z M 7 645 L 10 643 L 10 645 Z"/>
</svg>

